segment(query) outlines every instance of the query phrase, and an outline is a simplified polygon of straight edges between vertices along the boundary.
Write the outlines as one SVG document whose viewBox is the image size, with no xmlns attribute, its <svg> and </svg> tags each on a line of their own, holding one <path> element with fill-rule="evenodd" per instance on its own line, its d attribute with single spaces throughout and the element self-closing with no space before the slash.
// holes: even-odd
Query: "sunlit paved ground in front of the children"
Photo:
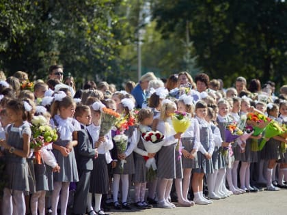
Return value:
<svg viewBox="0 0 287 215">
<path fill-rule="evenodd" d="M 149 210 L 114 211 L 113 215 L 286 215 L 287 214 L 287 190 L 279 192 L 262 191 L 243 195 L 232 195 L 227 199 L 213 201 L 211 205 L 195 205 L 193 207 L 176 207 L 174 209 L 152 208 Z"/>
</svg>

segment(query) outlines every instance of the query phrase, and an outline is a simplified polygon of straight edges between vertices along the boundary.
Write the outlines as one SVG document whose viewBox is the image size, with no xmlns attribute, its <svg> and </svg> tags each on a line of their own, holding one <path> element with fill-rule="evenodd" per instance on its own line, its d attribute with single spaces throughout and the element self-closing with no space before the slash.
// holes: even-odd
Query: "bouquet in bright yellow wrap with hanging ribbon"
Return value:
<svg viewBox="0 0 287 215">
<path fill-rule="evenodd" d="M 191 124 L 191 119 L 189 118 L 187 113 L 176 111 L 172 115 L 172 125 L 174 126 L 174 130 L 176 131 L 176 133 L 178 132 L 184 133 L 187 130 L 187 128 L 189 128 L 190 124 Z M 178 143 L 176 144 L 176 150 L 180 152 L 180 149 L 181 149 L 180 139 L 178 139 Z"/>
</svg>

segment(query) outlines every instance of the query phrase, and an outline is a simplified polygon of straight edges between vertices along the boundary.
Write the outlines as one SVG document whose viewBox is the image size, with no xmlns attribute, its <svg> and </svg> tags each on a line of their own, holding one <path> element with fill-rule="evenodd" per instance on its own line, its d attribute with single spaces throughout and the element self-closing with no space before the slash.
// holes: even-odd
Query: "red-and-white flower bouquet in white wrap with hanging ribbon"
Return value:
<svg viewBox="0 0 287 215">
<path fill-rule="evenodd" d="M 164 135 L 159 131 L 148 131 L 141 133 L 141 140 L 143 141 L 143 146 L 146 152 L 154 154 L 159 152 L 159 149 L 163 146 Z M 145 156 L 146 167 L 148 168 L 148 173 L 146 179 L 148 182 L 152 182 L 156 178 L 156 160 L 155 158 L 148 158 Z"/>
</svg>

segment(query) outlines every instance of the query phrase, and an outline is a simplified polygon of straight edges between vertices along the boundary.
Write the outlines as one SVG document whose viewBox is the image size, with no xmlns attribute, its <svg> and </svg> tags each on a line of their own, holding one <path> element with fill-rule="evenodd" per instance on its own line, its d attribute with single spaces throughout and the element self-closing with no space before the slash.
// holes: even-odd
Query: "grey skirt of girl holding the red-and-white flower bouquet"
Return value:
<svg viewBox="0 0 287 215">
<path fill-rule="evenodd" d="M 146 160 L 144 160 L 143 156 L 134 152 L 133 154 L 135 158 L 135 175 L 133 175 L 133 182 L 135 183 L 144 183 L 146 182 Z"/>
</svg>

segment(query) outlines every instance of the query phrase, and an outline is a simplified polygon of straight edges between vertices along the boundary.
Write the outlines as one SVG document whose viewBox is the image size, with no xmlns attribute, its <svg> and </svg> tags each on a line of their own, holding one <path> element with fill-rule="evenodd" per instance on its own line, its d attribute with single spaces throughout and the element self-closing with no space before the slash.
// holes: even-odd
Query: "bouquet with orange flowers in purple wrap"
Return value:
<svg viewBox="0 0 287 215">
<path fill-rule="evenodd" d="M 234 142 L 238 137 L 241 137 L 242 134 L 243 134 L 243 131 L 239 129 L 236 126 L 236 124 L 228 124 L 226 125 L 226 128 L 224 130 L 224 137 L 227 143 Z M 227 156 L 228 149 L 230 149 L 230 147 L 222 148 L 221 153 L 223 154 L 223 156 Z"/>
</svg>

